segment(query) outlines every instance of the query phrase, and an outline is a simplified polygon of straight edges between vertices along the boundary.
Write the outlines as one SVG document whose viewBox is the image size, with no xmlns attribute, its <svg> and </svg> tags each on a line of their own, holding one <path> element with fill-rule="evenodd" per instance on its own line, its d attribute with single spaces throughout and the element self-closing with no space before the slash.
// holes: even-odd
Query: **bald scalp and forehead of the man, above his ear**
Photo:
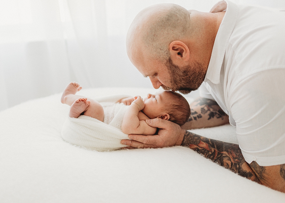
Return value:
<svg viewBox="0 0 285 203">
<path fill-rule="evenodd" d="M 143 9 L 133 20 L 127 34 L 127 53 L 165 61 L 169 44 L 190 33 L 189 12 L 176 4 L 158 4 Z"/>
</svg>

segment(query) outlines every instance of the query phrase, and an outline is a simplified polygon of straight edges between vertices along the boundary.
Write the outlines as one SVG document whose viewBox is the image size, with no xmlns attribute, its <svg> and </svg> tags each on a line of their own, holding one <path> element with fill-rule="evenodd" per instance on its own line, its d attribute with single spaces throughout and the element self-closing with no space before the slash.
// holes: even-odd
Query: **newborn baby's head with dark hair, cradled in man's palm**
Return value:
<svg viewBox="0 0 285 203">
<path fill-rule="evenodd" d="M 161 118 L 182 126 L 190 117 L 190 107 L 187 100 L 177 92 L 160 91 L 156 94 L 148 94 L 144 98 L 145 115 L 150 119 Z"/>
</svg>

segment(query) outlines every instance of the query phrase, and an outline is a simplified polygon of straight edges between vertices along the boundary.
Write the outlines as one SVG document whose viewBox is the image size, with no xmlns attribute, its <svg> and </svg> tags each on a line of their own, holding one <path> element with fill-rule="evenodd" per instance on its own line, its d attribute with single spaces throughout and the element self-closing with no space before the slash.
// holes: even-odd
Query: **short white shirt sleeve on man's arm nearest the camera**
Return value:
<svg viewBox="0 0 285 203">
<path fill-rule="evenodd" d="M 245 161 L 285 163 L 285 68 L 255 73 L 227 90 Z"/>
</svg>

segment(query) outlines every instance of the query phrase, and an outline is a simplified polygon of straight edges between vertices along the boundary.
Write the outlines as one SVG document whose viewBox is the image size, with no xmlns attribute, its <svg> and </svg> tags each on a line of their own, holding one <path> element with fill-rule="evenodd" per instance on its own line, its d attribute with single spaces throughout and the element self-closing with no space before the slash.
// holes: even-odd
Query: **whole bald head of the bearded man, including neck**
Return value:
<svg viewBox="0 0 285 203">
<path fill-rule="evenodd" d="M 213 28 L 208 18 L 208 13 L 175 4 L 144 9 L 127 34 L 129 59 L 156 89 L 162 86 L 184 94 L 196 90 L 205 78 L 215 40 L 207 32 Z"/>
</svg>

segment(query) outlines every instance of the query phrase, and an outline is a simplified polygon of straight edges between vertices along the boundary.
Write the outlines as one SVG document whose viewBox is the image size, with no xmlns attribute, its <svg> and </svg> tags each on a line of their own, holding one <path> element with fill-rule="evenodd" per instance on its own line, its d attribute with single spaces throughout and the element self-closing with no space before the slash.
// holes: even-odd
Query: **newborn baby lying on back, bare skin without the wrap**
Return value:
<svg viewBox="0 0 285 203">
<path fill-rule="evenodd" d="M 71 106 L 69 116 L 77 118 L 80 115 L 86 115 L 109 124 L 111 121 L 107 121 L 109 118 L 107 114 L 114 114 L 114 112 L 110 113 L 110 108 L 107 109 L 95 100 L 76 95 L 76 92 L 81 89 L 78 83 L 71 82 L 62 94 L 61 102 Z M 186 99 L 173 91 L 148 94 L 144 100 L 140 96 L 122 98 L 114 105 L 129 106 L 126 107 L 120 124 L 125 134 L 155 134 L 157 129 L 150 127 L 145 122 L 147 119 L 160 118 L 182 126 L 190 116 L 190 107 Z"/>
</svg>

